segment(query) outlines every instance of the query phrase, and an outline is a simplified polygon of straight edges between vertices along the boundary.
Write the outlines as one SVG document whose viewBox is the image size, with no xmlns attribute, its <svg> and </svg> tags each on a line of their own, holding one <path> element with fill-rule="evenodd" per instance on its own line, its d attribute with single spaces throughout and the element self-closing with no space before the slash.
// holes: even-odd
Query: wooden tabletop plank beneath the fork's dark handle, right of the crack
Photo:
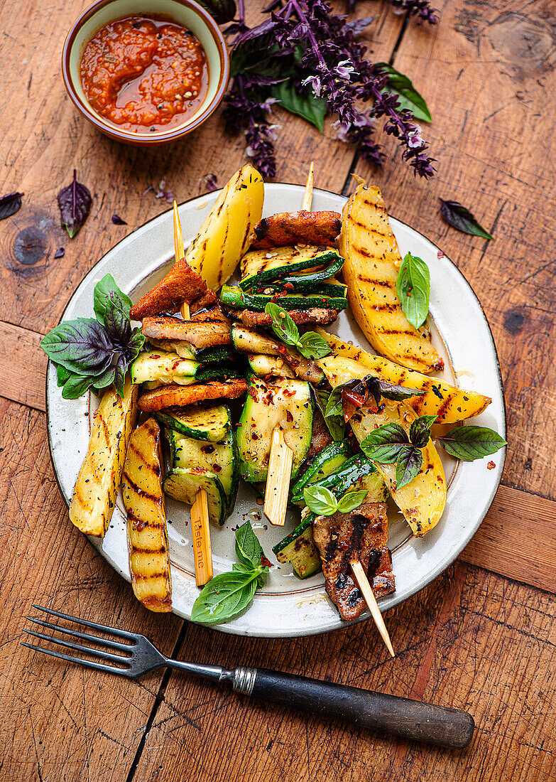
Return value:
<svg viewBox="0 0 556 782">
<path fill-rule="evenodd" d="M 172 675 L 134 782 L 179 782 L 186 768 L 198 782 L 547 782 L 552 606 L 550 595 L 458 564 L 388 612 L 394 660 L 369 622 L 268 641 L 189 626 L 183 659 L 261 665 L 465 708 L 475 737 L 464 751 L 431 750 Z"/>
</svg>

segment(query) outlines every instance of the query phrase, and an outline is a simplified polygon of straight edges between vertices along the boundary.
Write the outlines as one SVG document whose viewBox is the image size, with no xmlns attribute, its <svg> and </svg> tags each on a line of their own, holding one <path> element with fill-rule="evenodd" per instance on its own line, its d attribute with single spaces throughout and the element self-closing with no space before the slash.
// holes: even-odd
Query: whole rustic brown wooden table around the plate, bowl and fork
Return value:
<svg viewBox="0 0 556 782">
<path fill-rule="evenodd" d="M 0 779 L 554 779 L 554 4 L 448 0 L 437 3 L 441 22 L 430 29 L 386 4 L 360 2 L 358 15 L 376 14 L 373 56 L 410 74 L 429 103 L 438 173 L 428 183 L 413 177 L 394 143 L 386 143 L 394 160 L 370 170 L 333 140 L 330 124 L 319 135 L 276 111 L 277 181 L 303 182 L 315 160 L 323 188 L 351 192 L 351 173 L 380 185 L 394 216 L 443 247 L 469 279 L 501 359 L 509 425 L 502 486 L 458 561 L 387 615 L 394 660 L 369 622 L 251 640 L 151 615 L 69 523 L 46 443 L 41 335 L 103 253 L 169 208 L 150 186 L 166 179 L 178 200 L 189 199 L 204 191 L 205 174 L 222 185 L 244 160 L 242 139 L 227 138 L 217 116 L 155 151 L 98 135 L 60 75 L 63 38 L 81 5 L 0 5 L 0 193 L 25 193 L 20 212 L 0 223 Z M 251 21 L 258 7 L 251 2 Z M 74 167 L 94 204 L 69 241 L 55 196 Z M 494 241 L 448 228 L 440 196 L 470 206 Z M 112 213 L 128 225 L 113 225 Z M 56 259 L 60 246 L 66 254 Z M 476 735 L 465 751 L 439 750 L 242 700 L 180 674 L 131 683 L 59 665 L 19 645 L 33 602 L 144 631 L 170 655 L 468 708 Z"/>
</svg>

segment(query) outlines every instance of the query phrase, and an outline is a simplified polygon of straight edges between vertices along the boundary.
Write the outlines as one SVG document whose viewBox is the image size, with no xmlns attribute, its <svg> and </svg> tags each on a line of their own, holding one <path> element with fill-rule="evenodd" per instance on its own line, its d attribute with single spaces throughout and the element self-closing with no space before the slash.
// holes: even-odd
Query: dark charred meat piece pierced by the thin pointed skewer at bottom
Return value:
<svg viewBox="0 0 556 782">
<path fill-rule="evenodd" d="M 376 597 L 394 592 L 386 511 L 386 503 L 369 502 L 351 513 L 317 516 L 312 523 L 315 546 L 323 560 L 326 591 L 347 621 L 357 619 L 366 607 L 351 574 L 351 560 L 361 561 Z"/>
</svg>

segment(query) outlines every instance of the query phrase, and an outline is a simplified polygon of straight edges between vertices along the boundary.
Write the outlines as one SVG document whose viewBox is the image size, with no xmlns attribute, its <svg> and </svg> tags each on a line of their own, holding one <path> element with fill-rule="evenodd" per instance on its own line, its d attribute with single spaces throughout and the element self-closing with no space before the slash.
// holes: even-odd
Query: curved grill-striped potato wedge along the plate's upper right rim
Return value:
<svg viewBox="0 0 556 782">
<path fill-rule="evenodd" d="M 424 374 L 441 369 L 429 336 L 401 310 L 396 292 L 401 256 L 379 188 L 361 181 L 344 206 L 340 254 L 351 311 L 376 352 Z"/>
</svg>

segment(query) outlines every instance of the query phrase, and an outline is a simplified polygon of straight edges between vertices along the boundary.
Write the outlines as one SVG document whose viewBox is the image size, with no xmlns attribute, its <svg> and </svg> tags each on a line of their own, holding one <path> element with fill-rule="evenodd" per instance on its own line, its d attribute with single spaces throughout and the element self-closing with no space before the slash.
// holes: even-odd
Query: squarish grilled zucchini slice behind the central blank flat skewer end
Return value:
<svg viewBox="0 0 556 782">
<path fill-rule="evenodd" d="M 272 434 L 280 425 L 286 444 L 294 451 L 291 475 L 295 478 L 311 445 L 312 419 L 308 383 L 282 378 L 270 385 L 251 376 L 236 430 L 241 477 L 249 482 L 266 481 Z"/>
</svg>

